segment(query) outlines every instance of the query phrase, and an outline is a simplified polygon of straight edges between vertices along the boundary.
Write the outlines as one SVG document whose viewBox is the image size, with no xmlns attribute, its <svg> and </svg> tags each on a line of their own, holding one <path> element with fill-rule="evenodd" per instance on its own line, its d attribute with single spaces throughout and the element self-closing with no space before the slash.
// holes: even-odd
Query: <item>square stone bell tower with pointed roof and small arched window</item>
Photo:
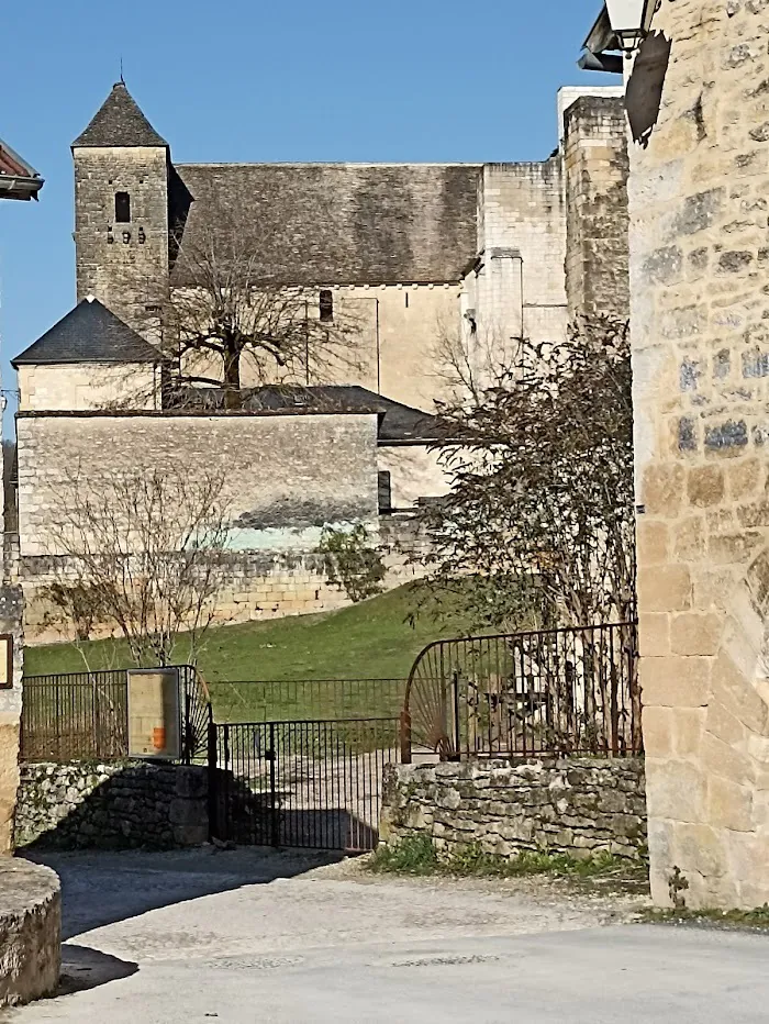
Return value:
<svg viewBox="0 0 769 1024">
<path fill-rule="evenodd" d="M 78 302 L 96 296 L 157 343 L 168 288 L 168 143 L 121 79 L 73 157 Z"/>
</svg>

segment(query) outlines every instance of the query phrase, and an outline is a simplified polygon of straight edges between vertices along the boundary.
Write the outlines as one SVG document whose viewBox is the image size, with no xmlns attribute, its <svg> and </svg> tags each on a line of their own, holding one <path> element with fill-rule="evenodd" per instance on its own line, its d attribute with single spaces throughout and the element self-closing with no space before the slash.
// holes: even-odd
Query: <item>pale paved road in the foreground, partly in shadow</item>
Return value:
<svg viewBox="0 0 769 1024">
<path fill-rule="evenodd" d="M 46 862 L 76 991 L 13 1024 L 769 1020 L 769 938 L 620 925 L 609 895 L 250 852 Z"/>
</svg>

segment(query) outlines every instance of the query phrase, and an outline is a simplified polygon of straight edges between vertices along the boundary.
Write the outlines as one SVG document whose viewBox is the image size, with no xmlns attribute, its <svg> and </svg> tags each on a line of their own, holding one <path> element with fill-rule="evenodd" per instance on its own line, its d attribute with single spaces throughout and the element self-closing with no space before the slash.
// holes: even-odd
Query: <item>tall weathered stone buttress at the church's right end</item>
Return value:
<svg viewBox="0 0 769 1024">
<path fill-rule="evenodd" d="M 625 104 L 582 97 L 566 112 L 566 291 L 571 319 L 629 309 Z"/>
</svg>

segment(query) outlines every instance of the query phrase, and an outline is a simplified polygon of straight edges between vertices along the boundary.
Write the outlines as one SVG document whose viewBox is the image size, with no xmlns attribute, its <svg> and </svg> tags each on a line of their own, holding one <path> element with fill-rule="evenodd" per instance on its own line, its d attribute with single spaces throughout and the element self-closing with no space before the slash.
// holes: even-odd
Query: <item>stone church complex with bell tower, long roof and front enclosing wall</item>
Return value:
<svg viewBox="0 0 769 1024">
<path fill-rule="evenodd" d="M 338 601 L 313 554 L 324 523 L 364 523 L 394 552 L 404 513 L 446 490 L 428 443 L 447 340 L 480 371 L 516 338 L 626 316 L 620 91 L 562 89 L 558 145 L 540 163 L 176 164 L 118 82 L 73 144 L 78 304 L 13 361 L 31 638 L 48 635 L 33 594 L 63 571 L 51 524 L 73 465 L 86 478 L 105 459 L 226 468 L 230 619 Z M 211 388 L 169 409 L 169 296 L 193 287 L 196 248 L 244 242 L 261 280 L 304 290 L 308 318 L 355 323 L 358 357 L 269 380 L 244 363 L 242 410 Z M 392 582 L 403 563 L 393 554 Z"/>
</svg>

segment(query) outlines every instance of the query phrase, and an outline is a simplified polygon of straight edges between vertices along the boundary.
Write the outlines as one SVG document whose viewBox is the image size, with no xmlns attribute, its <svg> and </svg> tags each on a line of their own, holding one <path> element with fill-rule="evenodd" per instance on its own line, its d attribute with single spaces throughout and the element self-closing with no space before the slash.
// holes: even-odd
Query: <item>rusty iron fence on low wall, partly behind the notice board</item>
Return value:
<svg viewBox="0 0 769 1024">
<path fill-rule="evenodd" d="M 207 756 L 209 695 L 190 665 L 179 674 L 181 759 Z M 24 761 L 121 760 L 129 754 L 127 669 L 25 676 Z"/>
</svg>

